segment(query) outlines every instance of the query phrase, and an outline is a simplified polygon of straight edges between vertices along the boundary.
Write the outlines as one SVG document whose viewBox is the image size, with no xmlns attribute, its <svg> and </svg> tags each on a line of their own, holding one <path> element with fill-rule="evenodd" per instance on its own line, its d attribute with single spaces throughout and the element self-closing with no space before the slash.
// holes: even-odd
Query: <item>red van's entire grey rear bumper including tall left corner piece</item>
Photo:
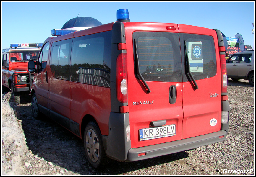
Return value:
<svg viewBox="0 0 256 177">
<path fill-rule="evenodd" d="M 229 105 L 226 103 L 228 102 L 223 102 L 223 108 L 228 109 Z M 104 149 L 109 158 L 132 162 L 209 145 L 226 140 L 229 127 L 229 123 L 222 123 L 221 130 L 218 132 L 140 148 L 131 148 L 131 141 L 126 140 L 126 127 L 128 125 L 129 113 L 110 113 L 109 134 L 108 136 L 102 135 Z M 140 153 L 146 154 L 138 156 Z"/>
</svg>

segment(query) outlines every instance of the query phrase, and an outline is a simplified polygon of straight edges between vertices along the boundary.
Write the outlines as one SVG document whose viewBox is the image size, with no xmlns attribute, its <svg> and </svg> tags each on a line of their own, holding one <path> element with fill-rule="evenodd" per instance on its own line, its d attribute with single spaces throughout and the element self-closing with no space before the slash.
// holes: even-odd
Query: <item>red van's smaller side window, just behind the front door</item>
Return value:
<svg viewBox="0 0 256 177">
<path fill-rule="evenodd" d="M 54 78 L 70 80 L 72 39 L 54 42 L 51 47 L 50 67 Z"/>
</svg>

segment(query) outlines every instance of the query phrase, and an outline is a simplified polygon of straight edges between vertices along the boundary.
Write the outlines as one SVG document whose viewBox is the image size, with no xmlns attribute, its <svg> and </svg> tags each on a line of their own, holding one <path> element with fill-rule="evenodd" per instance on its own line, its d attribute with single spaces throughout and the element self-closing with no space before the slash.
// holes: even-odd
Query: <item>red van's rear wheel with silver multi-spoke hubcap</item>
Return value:
<svg viewBox="0 0 256 177">
<path fill-rule="evenodd" d="M 107 156 L 103 147 L 101 131 L 95 122 L 89 122 L 85 127 L 84 147 L 86 157 L 94 168 L 106 165 Z"/>
</svg>

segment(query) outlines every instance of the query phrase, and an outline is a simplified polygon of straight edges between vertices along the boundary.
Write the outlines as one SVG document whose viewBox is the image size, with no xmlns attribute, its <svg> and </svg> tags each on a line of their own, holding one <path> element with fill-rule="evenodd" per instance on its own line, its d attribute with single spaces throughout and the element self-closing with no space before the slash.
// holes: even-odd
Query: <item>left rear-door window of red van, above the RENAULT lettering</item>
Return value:
<svg viewBox="0 0 256 177">
<path fill-rule="evenodd" d="M 178 33 L 134 32 L 133 40 L 145 81 L 182 82 Z"/>
</svg>

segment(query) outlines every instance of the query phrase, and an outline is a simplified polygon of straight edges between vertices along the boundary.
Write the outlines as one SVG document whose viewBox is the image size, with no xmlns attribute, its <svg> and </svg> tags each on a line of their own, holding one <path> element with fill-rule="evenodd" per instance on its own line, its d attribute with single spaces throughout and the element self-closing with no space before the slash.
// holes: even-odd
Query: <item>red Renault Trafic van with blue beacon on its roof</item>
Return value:
<svg viewBox="0 0 256 177">
<path fill-rule="evenodd" d="M 33 115 L 83 139 L 95 168 L 107 157 L 136 161 L 225 140 L 222 33 L 130 22 L 125 12 L 117 11 L 116 22 L 45 40 L 38 61 L 28 64 L 36 73 Z"/>
</svg>

